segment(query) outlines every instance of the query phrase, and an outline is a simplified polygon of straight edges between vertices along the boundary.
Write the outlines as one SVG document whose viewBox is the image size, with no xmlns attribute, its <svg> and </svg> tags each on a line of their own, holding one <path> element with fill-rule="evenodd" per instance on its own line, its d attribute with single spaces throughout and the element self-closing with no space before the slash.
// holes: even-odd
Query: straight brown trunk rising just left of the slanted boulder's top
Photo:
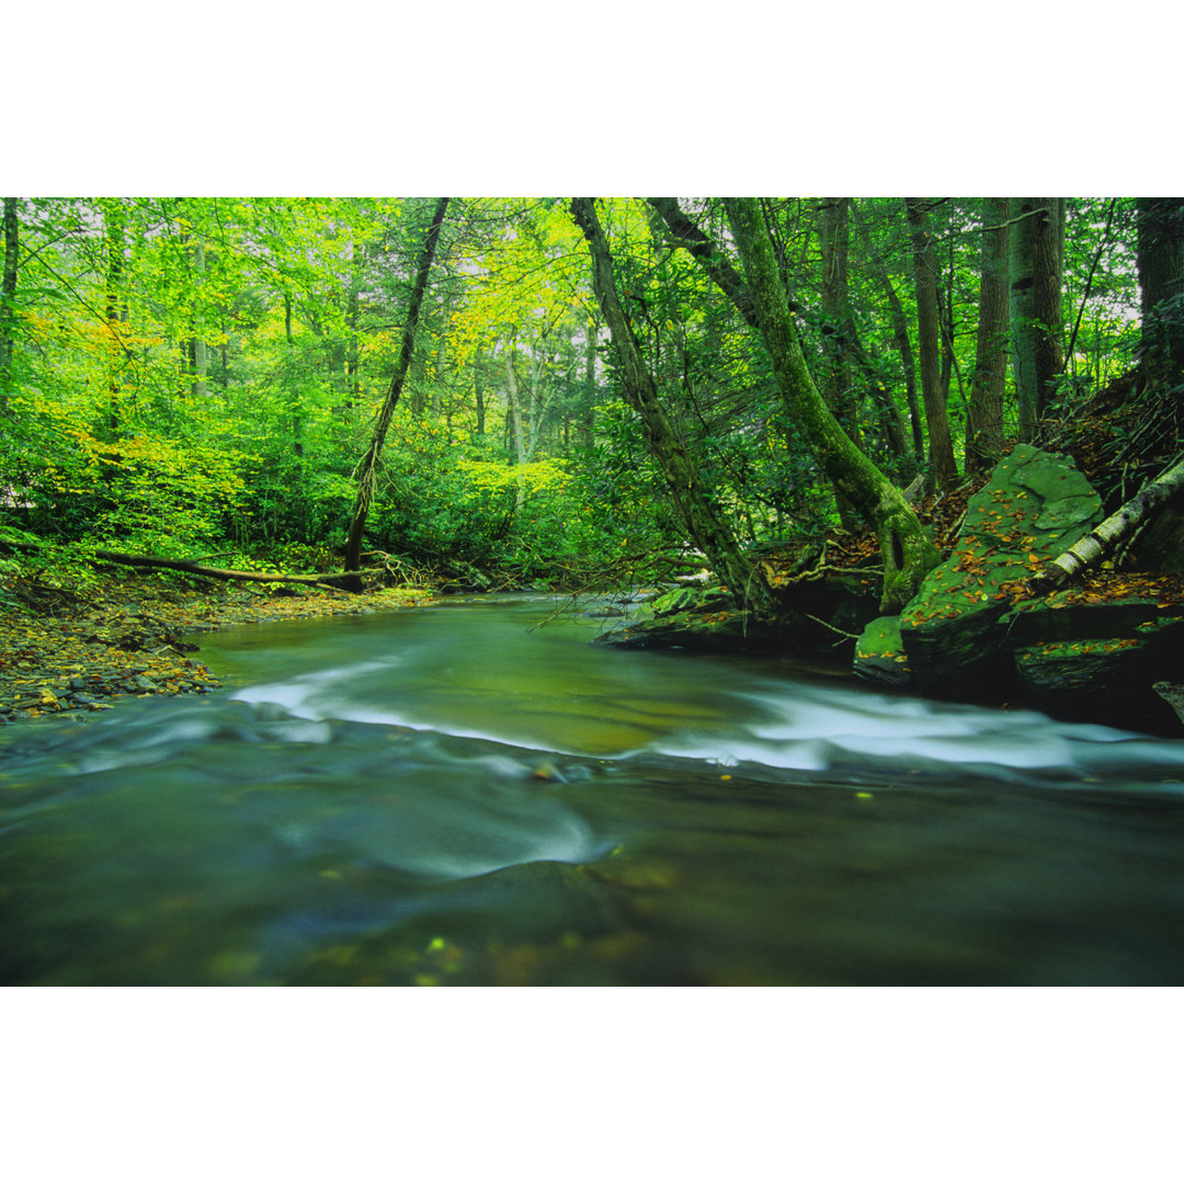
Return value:
<svg viewBox="0 0 1184 1184">
<path fill-rule="evenodd" d="M 987 198 L 978 295 L 978 347 L 966 422 L 966 474 L 1003 456 L 1003 388 L 1008 373 L 1008 199 Z"/>
</svg>

